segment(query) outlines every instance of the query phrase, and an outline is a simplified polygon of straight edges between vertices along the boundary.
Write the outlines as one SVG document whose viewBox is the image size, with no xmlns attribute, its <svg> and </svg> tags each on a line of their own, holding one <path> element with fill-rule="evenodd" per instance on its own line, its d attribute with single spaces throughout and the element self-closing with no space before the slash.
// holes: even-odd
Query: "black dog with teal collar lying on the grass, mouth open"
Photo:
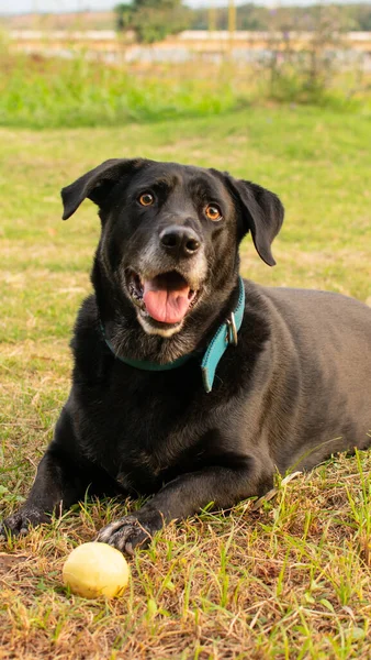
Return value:
<svg viewBox="0 0 371 660">
<path fill-rule="evenodd" d="M 61 195 L 65 220 L 87 197 L 99 206 L 95 293 L 54 440 L 3 532 L 47 521 L 88 487 L 156 493 L 98 537 L 131 553 L 165 521 L 263 494 L 277 469 L 370 444 L 371 309 L 239 278 L 248 231 L 274 264 L 276 195 L 146 160 L 108 161 Z"/>
</svg>

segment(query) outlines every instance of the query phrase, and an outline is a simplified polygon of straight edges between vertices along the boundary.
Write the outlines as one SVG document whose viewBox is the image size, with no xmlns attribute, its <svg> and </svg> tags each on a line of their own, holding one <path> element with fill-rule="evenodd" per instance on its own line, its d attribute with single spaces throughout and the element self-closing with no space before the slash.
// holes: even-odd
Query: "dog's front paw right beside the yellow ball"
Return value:
<svg viewBox="0 0 371 660">
<path fill-rule="evenodd" d="M 147 548 L 151 541 L 155 531 L 160 529 L 161 525 L 157 520 L 146 519 L 142 522 L 135 516 L 125 516 L 115 522 L 103 527 L 97 537 L 97 541 L 113 546 L 121 552 L 134 554 L 135 548 Z"/>
</svg>

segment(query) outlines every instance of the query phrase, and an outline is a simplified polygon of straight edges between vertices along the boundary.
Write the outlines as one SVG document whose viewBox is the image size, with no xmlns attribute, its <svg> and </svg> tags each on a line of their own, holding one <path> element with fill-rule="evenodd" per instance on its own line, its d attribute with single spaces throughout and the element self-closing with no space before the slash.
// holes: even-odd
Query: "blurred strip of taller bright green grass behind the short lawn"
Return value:
<svg viewBox="0 0 371 660">
<path fill-rule="evenodd" d="M 72 45 L 71 45 L 72 47 Z M 75 54 L 74 54 L 75 53 Z M 369 76 L 334 76 L 311 91 L 305 75 L 290 68 L 270 82 L 269 66 L 194 61 L 115 67 L 83 54 L 68 61 L 8 52 L 0 34 L 0 125 L 52 129 L 122 127 L 127 122 L 215 117 L 251 105 L 314 103 L 370 113 Z"/>
</svg>

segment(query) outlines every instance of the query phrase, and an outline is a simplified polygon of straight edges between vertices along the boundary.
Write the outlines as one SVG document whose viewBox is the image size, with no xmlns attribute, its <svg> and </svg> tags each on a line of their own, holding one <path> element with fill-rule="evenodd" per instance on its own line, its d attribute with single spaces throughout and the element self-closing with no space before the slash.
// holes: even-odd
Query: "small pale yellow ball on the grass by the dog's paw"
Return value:
<svg viewBox="0 0 371 660">
<path fill-rule="evenodd" d="M 106 543 L 83 543 L 75 548 L 63 568 L 66 586 L 83 598 L 121 596 L 130 568 L 124 556 Z"/>
</svg>

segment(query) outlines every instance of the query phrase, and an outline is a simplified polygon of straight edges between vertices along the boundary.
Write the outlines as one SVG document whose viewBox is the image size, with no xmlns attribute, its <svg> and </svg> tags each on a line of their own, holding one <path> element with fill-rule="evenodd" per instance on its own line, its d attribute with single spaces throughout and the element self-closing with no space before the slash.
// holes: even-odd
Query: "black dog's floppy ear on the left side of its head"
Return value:
<svg viewBox="0 0 371 660">
<path fill-rule="evenodd" d="M 111 158 L 63 188 L 60 191 L 64 205 L 63 220 L 68 220 L 87 197 L 101 206 L 117 180 L 127 170 L 138 167 L 142 163 L 142 158 Z"/>
</svg>

